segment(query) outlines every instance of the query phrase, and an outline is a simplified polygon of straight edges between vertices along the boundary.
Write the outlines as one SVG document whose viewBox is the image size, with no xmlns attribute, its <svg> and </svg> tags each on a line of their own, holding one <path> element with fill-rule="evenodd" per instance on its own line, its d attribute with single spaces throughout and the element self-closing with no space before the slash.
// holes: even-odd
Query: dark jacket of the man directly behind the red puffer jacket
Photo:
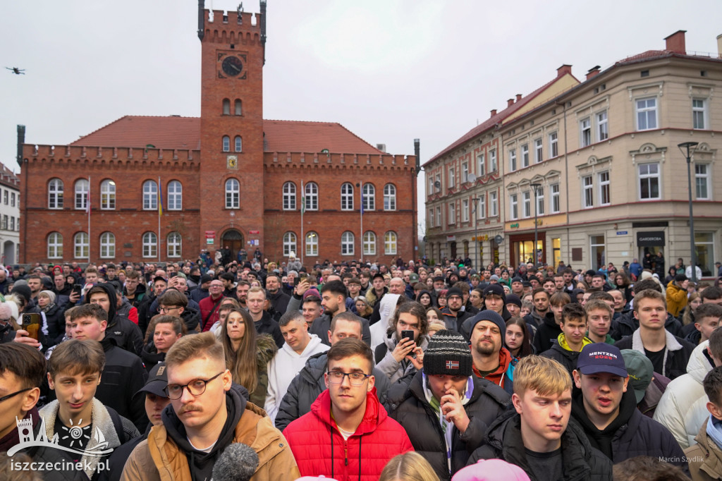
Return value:
<svg viewBox="0 0 722 481">
<path fill-rule="evenodd" d="M 329 365 L 329 357 L 326 352 L 319 352 L 306 361 L 298 376 L 293 378 L 288 386 L 288 391 L 281 401 L 276 415 L 276 427 L 284 430 L 291 421 L 311 412 L 311 404 L 316 401 L 318 394 L 326 391 L 326 384 L 323 382 L 323 373 Z M 376 378 L 376 396 L 383 404 L 386 394 L 391 388 L 388 376 L 376 368 L 373 368 L 373 375 Z"/>
</svg>

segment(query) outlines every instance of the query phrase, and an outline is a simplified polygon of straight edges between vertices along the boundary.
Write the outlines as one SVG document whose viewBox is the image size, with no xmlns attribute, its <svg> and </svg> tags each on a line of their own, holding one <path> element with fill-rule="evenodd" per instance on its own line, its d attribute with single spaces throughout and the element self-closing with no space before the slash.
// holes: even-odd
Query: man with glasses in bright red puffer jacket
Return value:
<svg viewBox="0 0 722 481">
<path fill-rule="evenodd" d="M 414 447 L 378 402 L 370 347 L 360 339 L 342 339 L 331 346 L 328 358 L 323 377 L 329 389 L 283 434 L 301 476 L 376 481 L 393 456 Z"/>
</svg>

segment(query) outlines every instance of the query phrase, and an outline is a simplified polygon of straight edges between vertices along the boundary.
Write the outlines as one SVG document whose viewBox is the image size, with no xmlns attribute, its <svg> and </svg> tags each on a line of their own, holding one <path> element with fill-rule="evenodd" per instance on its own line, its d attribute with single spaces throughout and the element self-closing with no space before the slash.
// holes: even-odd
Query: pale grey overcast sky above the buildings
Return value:
<svg viewBox="0 0 722 481">
<path fill-rule="evenodd" d="M 230 9 L 231 0 L 206 0 Z M 244 2 L 258 12 L 258 1 Z M 332 121 L 422 163 L 554 78 L 652 49 L 687 30 L 717 54 L 720 0 L 268 0 L 264 118 Z M 67 144 L 124 115 L 200 115 L 195 0 L 22 0 L 3 5 L 0 160 Z M 419 174 L 423 222 L 423 173 Z"/>
</svg>

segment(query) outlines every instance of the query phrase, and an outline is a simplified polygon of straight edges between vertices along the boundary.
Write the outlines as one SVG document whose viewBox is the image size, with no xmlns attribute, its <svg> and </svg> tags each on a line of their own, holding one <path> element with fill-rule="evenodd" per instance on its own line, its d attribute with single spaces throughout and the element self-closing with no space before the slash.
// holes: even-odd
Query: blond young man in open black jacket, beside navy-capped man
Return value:
<svg viewBox="0 0 722 481">
<path fill-rule="evenodd" d="M 514 410 L 487 430 L 484 444 L 467 464 L 503 459 L 521 467 L 532 481 L 611 481 L 612 462 L 589 444 L 570 420 L 572 379 L 557 361 L 522 358 L 514 371 Z"/>
</svg>

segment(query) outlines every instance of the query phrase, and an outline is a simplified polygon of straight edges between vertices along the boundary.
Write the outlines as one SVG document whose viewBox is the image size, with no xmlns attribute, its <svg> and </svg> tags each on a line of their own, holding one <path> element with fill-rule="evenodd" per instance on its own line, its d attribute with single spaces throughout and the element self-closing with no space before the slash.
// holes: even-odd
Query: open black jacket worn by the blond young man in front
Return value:
<svg viewBox="0 0 722 481">
<path fill-rule="evenodd" d="M 479 459 L 503 459 L 516 464 L 526 472 L 531 481 L 546 480 L 543 474 L 532 472 L 526 462 L 526 451 L 521 440 L 521 416 L 509 410 L 492 424 L 484 440 L 468 464 Z M 612 462 L 589 444 L 584 431 L 573 420 L 562 434 L 562 460 L 565 481 L 612 481 Z"/>
</svg>

